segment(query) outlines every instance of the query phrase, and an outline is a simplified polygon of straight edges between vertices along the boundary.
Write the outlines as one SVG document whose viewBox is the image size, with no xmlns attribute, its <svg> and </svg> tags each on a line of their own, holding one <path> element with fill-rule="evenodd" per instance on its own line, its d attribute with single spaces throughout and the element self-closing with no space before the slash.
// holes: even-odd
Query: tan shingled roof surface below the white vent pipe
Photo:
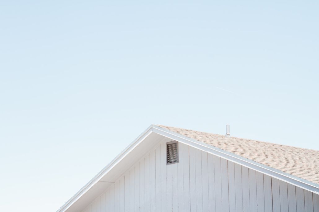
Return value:
<svg viewBox="0 0 319 212">
<path fill-rule="evenodd" d="M 319 151 L 317 150 L 158 126 L 319 184 Z"/>
</svg>

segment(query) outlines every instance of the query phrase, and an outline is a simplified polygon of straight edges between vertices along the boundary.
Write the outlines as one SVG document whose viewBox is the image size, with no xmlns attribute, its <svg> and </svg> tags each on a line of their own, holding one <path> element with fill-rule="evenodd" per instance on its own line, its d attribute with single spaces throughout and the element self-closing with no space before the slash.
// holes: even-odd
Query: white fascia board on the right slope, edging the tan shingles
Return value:
<svg viewBox="0 0 319 212">
<path fill-rule="evenodd" d="M 234 163 L 238 163 L 238 164 L 245 166 L 247 168 L 254 169 L 254 170 L 261 172 L 263 174 L 267 174 L 271 177 L 277 178 L 279 180 L 293 184 L 293 185 L 298 186 L 300 188 L 306 189 L 306 190 L 311 191 L 315 194 L 319 194 L 319 185 L 318 184 L 315 184 L 315 183 L 307 181 L 305 179 L 296 177 L 292 174 L 288 174 L 286 172 L 280 171 L 280 170 L 275 169 L 275 168 L 271 168 L 271 167 L 266 166 L 264 164 L 257 163 L 255 161 L 250 160 L 250 159 L 241 157 L 237 154 L 227 152 L 225 150 L 222 150 L 222 149 L 219 149 L 217 147 L 206 144 L 204 142 L 189 138 L 189 137 L 181 135 L 179 133 L 172 132 L 170 130 L 159 127 L 157 125 L 153 125 L 152 131 L 154 133 L 158 133 L 158 134 L 165 136 L 167 138 L 170 138 L 170 139 L 179 141 L 181 143 L 187 144 L 191 147 L 195 147 L 197 149 L 203 150 L 204 152 L 214 154 L 214 155 L 219 156 L 221 158 L 224 158 L 226 160 L 232 161 Z"/>
</svg>

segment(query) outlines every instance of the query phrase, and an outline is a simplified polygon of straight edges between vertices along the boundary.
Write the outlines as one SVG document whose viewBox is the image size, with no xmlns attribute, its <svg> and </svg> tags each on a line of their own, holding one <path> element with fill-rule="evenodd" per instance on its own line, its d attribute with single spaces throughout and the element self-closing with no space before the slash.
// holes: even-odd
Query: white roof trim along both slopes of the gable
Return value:
<svg viewBox="0 0 319 212">
<path fill-rule="evenodd" d="M 242 166 L 254 169 L 258 172 L 267 174 L 279 180 L 288 182 L 300 188 L 311 191 L 319 195 L 319 185 L 313 182 L 304 180 L 302 178 L 296 177 L 292 174 L 285 173 L 275 168 L 257 163 L 250 159 L 241 157 L 239 155 L 227 152 L 225 150 L 219 149 L 217 147 L 208 145 L 204 142 L 189 138 L 187 136 L 181 135 L 179 133 L 172 132 L 170 130 L 164 129 L 157 125 L 149 126 L 143 133 L 141 133 L 133 142 L 128 145 L 120 154 L 118 154 L 115 159 L 113 159 L 105 168 L 103 168 L 97 175 L 95 175 L 92 180 L 90 180 L 84 187 L 82 187 L 73 197 L 70 198 L 60 209 L 56 212 L 64 212 L 69 209 L 74 202 L 76 202 L 81 196 L 83 196 L 90 188 L 92 188 L 103 176 L 105 176 L 116 164 L 118 164 L 127 154 L 129 154 L 137 145 L 139 145 L 146 137 L 148 137 L 152 132 L 159 135 L 171 138 L 173 140 L 179 141 L 181 143 L 187 144 L 191 147 L 201 149 L 210 154 L 217 155 L 229 161 L 233 161 Z"/>
</svg>

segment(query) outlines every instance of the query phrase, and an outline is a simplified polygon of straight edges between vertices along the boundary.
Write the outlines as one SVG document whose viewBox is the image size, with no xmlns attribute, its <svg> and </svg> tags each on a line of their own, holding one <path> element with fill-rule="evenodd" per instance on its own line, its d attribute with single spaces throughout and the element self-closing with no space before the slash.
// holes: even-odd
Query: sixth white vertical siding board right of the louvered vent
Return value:
<svg viewBox="0 0 319 212">
<path fill-rule="evenodd" d="M 184 144 L 185 145 L 185 144 Z M 215 212 L 215 170 L 214 155 L 208 154 L 208 192 L 209 192 L 209 211 Z"/>
</svg>

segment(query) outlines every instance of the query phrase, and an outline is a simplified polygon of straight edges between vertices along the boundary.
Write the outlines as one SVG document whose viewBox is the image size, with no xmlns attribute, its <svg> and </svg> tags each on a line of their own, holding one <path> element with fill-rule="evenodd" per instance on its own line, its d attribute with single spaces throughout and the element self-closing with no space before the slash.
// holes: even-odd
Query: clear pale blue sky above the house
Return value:
<svg viewBox="0 0 319 212">
<path fill-rule="evenodd" d="M 318 1 L 0 1 L 0 211 L 56 211 L 150 124 L 319 149 Z"/>
</svg>

